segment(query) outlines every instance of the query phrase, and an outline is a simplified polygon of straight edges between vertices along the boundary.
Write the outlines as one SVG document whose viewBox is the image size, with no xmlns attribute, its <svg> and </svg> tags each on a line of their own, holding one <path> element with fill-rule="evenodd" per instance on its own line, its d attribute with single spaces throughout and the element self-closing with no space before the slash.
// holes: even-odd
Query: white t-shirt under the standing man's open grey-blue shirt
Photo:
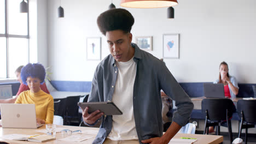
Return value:
<svg viewBox="0 0 256 144">
<path fill-rule="evenodd" d="M 137 140 L 132 100 L 137 64 L 133 61 L 133 57 L 127 62 L 115 64 L 118 67 L 118 76 L 112 101 L 123 112 L 123 115 L 113 116 L 113 126 L 108 139 Z"/>
</svg>

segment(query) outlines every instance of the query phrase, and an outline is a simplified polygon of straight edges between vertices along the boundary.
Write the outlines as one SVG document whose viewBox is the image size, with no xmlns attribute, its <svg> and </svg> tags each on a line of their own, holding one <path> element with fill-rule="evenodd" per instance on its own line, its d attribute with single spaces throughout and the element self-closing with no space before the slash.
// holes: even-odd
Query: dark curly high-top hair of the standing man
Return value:
<svg viewBox="0 0 256 144">
<path fill-rule="evenodd" d="M 134 18 L 128 10 L 109 9 L 98 16 L 97 24 L 102 34 L 108 31 L 122 30 L 130 33 Z"/>
</svg>

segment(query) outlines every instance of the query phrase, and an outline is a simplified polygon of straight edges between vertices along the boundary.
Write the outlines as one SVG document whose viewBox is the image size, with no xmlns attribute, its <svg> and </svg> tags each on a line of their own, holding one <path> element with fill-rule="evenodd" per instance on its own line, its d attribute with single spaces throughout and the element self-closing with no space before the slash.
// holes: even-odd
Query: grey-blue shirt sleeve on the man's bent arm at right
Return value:
<svg viewBox="0 0 256 144">
<path fill-rule="evenodd" d="M 177 107 L 177 111 L 173 113 L 173 121 L 183 127 L 190 119 L 194 104 L 168 68 L 163 64 L 160 66 L 160 69 L 161 72 L 159 73 L 159 79 L 161 88 L 168 97 L 175 100 Z"/>
</svg>

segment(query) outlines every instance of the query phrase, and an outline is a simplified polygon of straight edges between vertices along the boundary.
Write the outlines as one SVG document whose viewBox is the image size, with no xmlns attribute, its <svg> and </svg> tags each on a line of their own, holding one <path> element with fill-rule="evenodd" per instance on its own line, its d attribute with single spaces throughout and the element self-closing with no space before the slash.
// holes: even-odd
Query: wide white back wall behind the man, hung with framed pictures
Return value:
<svg viewBox="0 0 256 144">
<path fill-rule="evenodd" d="M 62 0 L 64 18 L 57 18 L 59 1 L 48 1 L 48 65 L 53 80 L 91 81 L 100 61 L 86 61 L 86 37 L 102 37 L 102 59 L 109 52 L 96 19 L 111 1 Z M 113 3 L 120 8 L 118 0 Z M 229 64 L 240 83 L 256 83 L 256 3 L 246 0 L 183 0 L 174 7 L 127 9 L 135 17 L 133 38 L 153 36 L 154 56 L 162 57 L 162 34 L 180 34 L 180 58 L 164 59 L 179 82 L 210 82 L 218 78 L 219 63 Z M 134 40 L 134 39 L 133 39 Z"/>
</svg>

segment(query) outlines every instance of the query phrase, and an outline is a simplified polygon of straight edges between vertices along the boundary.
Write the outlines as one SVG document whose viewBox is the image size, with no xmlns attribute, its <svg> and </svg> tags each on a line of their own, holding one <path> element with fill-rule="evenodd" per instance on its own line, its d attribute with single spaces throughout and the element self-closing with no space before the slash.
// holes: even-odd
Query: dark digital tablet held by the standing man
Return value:
<svg viewBox="0 0 256 144">
<path fill-rule="evenodd" d="M 104 115 L 123 115 L 113 101 L 102 101 L 102 102 L 89 102 L 89 103 L 78 103 L 83 110 L 86 106 L 89 107 L 88 113 L 92 113 L 96 110 L 100 110 Z"/>
</svg>

